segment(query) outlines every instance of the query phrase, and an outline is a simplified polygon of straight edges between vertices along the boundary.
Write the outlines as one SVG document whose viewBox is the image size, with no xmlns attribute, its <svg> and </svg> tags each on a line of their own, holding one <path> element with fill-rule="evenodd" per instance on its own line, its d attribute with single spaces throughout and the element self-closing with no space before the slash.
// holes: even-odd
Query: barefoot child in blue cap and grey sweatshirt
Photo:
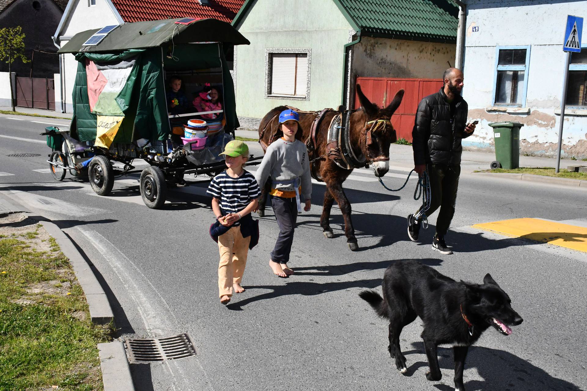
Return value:
<svg viewBox="0 0 587 391">
<path fill-rule="evenodd" d="M 301 195 L 308 212 L 311 206 L 312 180 L 308 162 L 308 149 L 296 134 L 302 134 L 299 115 L 294 110 L 279 114 L 283 137 L 269 145 L 255 178 L 261 186 L 271 177 L 269 196 L 279 226 L 279 235 L 269 266 L 278 277 L 289 277 L 294 270 L 288 267 L 289 253 L 294 242 L 294 228 L 298 213 L 302 213 Z"/>
</svg>

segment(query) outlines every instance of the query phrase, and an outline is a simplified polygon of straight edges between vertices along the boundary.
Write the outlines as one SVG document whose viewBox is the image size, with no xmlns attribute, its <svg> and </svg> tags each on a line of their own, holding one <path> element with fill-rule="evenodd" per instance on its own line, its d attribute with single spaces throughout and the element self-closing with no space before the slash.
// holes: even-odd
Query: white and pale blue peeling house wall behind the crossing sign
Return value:
<svg viewBox="0 0 587 391">
<path fill-rule="evenodd" d="M 489 123 L 514 121 L 520 130 L 522 154 L 556 156 L 562 77 L 565 53 L 562 51 L 567 15 L 585 14 L 586 1 L 549 0 L 469 0 L 465 38 L 465 87 L 469 120 L 479 120 L 472 137 L 463 145 L 493 148 Z M 587 16 L 587 15 L 585 15 Z M 478 31 L 473 32 L 473 27 Z M 587 36 L 583 28 L 583 46 Z M 493 106 L 496 46 L 530 45 L 527 99 L 522 104 L 529 113 L 502 113 Z M 583 50 L 587 50 L 583 48 Z M 586 108 L 587 109 L 587 108 Z M 562 155 L 587 157 L 587 110 L 565 111 Z"/>
</svg>

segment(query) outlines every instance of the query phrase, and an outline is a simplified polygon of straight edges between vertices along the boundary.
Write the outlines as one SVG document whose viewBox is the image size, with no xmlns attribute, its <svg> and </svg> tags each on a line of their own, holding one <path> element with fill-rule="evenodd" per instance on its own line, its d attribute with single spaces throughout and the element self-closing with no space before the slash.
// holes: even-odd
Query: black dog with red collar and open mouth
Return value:
<svg viewBox="0 0 587 391">
<path fill-rule="evenodd" d="M 430 365 L 428 380 L 440 380 L 437 346 L 454 348 L 454 385 L 464 391 L 463 368 L 469 346 L 490 326 L 510 335 L 508 325 L 519 325 L 522 318 L 511 308 L 510 297 L 487 274 L 483 284 L 468 284 L 443 276 L 416 260 L 400 261 L 388 267 L 383 277 L 383 297 L 364 290 L 359 296 L 377 314 L 389 319 L 389 350 L 396 366 L 405 373 L 406 358 L 400 350 L 404 326 L 420 317 L 424 322 L 421 337 Z"/>
</svg>

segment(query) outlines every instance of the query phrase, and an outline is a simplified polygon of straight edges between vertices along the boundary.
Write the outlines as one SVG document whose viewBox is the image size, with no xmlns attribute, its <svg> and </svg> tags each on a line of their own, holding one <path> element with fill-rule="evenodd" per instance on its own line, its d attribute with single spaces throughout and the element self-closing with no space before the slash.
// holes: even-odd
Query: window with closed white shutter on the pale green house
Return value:
<svg viewBox="0 0 587 391">
<path fill-rule="evenodd" d="M 308 100 L 310 59 L 309 49 L 282 49 L 281 52 L 268 50 L 266 97 Z"/>
</svg>

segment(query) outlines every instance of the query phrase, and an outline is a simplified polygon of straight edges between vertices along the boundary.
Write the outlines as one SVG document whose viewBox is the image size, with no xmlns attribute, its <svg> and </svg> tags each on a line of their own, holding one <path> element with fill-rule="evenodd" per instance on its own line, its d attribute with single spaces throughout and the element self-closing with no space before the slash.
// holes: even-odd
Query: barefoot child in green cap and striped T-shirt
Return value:
<svg viewBox="0 0 587 391">
<path fill-rule="evenodd" d="M 228 142 L 224 152 L 226 171 L 212 179 L 207 193 L 212 196 L 216 222 L 210 236 L 218 242 L 218 290 L 220 302 L 228 304 L 233 293 L 242 293 L 242 274 L 248 250 L 259 240 L 259 225 L 251 212 L 257 210 L 261 190 L 255 177 L 244 169 L 249 148 L 242 141 Z"/>
</svg>

